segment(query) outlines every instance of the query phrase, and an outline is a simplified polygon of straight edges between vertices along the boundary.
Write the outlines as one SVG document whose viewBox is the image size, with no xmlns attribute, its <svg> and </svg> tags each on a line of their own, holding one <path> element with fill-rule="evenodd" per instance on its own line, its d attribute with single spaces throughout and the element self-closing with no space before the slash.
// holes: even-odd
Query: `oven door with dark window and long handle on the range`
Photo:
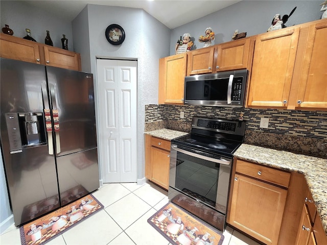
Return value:
<svg viewBox="0 0 327 245">
<path fill-rule="evenodd" d="M 231 158 L 171 145 L 169 186 L 226 214 Z"/>
</svg>

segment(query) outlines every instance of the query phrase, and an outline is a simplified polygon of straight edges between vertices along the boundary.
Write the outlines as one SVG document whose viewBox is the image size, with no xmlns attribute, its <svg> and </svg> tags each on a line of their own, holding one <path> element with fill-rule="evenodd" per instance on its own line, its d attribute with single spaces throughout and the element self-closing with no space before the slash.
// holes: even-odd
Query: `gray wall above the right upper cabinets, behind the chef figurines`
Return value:
<svg viewBox="0 0 327 245">
<path fill-rule="evenodd" d="M 323 1 L 241 1 L 205 17 L 177 27 L 171 32 L 170 54 L 175 54 L 175 44 L 184 33 L 193 37 L 192 50 L 203 47 L 198 37 L 204 35 L 207 27 L 215 32 L 214 44 L 228 42 L 235 30 L 246 32 L 247 37 L 267 32 L 275 14 L 295 12 L 286 22 L 287 27 L 321 18 L 320 4 Z M 213 4 L 215 1 L 213 1 Z M 192 40 L 192 39 L 191 39 Z"/>
</svg>

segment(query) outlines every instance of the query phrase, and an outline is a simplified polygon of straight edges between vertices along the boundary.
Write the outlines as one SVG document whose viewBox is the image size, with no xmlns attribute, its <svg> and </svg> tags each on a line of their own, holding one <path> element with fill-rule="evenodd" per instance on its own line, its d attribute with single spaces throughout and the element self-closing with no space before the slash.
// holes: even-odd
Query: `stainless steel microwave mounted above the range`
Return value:
<svg viewBox="0 0 327 245">
<path fill-rule="evenodd" d="M 248 70 L 185 77 L 184 104 L 244 107 Z"/>
</svg>

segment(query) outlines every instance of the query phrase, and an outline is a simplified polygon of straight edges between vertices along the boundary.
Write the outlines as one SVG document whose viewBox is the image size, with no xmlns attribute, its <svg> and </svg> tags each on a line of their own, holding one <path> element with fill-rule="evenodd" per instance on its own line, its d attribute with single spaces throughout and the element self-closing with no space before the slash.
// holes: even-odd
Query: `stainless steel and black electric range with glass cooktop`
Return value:
<svg viewBox="0 0 327 245">
<path fill-rule="evenodd" d="M 193 117 L 192 131 L 171 141 L 169 199 L 224 231 L 233 153 L 245 122 Z"/>
</svg>

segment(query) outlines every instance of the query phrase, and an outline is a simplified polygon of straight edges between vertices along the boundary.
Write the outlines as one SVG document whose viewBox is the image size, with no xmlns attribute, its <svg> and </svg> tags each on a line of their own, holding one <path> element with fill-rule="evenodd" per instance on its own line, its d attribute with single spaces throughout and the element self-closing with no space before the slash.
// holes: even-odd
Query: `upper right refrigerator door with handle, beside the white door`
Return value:
<svg viewBox="0 0 327 245">
<path fill-rule="evenodd" d="M 53 118 L 58 119 L 54 125 L 56 156 L 96 148 L 92 74 L 51 66 L 46 66 L 46 73 Z"/>
</svg>

